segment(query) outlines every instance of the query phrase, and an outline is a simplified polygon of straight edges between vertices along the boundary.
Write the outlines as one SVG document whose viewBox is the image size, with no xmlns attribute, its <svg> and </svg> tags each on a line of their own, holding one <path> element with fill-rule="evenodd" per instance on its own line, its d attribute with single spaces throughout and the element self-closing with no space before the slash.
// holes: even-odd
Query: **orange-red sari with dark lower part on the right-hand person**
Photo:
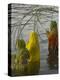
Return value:
<svg viewBox="0 0 60 80">
<path fill-rule="evenodd" d="M 56 32 L 50 32 L 48 36 L 48 64 L 57 65 L 58 64 L 58 35 Z M 57 65 L 58 66 L 58 65 Z"/>
</svg>

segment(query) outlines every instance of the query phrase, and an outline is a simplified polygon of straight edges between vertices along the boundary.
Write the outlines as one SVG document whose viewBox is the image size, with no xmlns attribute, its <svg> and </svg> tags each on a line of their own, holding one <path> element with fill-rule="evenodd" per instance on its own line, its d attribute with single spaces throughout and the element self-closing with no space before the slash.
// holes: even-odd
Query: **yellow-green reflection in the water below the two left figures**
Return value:
<svg viewBox="0 0 60 80">
<path fill-rule="evenodd" d="M 37 75 L 39 74 L 40 64 L 36 62 L 31 62 L 26 65 L 20 66 L 19 70 L 12 70 L 12 76 L 19 76 L 19 75 Z"/>
</svg>

